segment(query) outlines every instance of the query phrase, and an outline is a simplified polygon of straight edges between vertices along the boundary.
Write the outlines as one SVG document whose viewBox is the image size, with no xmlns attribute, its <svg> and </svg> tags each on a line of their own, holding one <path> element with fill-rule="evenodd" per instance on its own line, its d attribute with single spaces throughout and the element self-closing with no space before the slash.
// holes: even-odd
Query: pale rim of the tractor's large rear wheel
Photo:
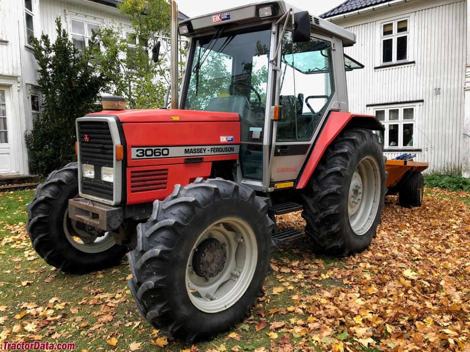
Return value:
<svg viewBox="0 0 470 352">
<path fill-rule="evenodd" d="M 352 175 L 348 193 L 348 216 L 352 231 L 364 235 L 376 219 L 380 204 L 380 172 L 372 156 L 364 157 Z"/>
</svg>

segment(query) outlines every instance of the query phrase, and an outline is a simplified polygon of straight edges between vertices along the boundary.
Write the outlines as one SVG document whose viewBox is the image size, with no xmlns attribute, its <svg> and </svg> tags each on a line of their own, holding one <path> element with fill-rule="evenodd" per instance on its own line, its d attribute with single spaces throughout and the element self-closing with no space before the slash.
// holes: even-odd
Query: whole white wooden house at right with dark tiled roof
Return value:
<svg viewBox="0 0 470 352">
<path fill-rule="evenodd" d="M 385 155 L 417 155 L 430 171 L 470 176 L 467 0 L 347 0 L 320 17 L 349 29 L 349 109 L 386 127 Z"/>
</svg>

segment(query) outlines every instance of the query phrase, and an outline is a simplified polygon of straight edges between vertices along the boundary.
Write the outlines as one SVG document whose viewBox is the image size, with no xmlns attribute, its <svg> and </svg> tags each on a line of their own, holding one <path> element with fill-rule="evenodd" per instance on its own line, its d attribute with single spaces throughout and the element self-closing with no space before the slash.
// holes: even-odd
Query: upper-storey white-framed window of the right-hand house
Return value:
<svg viewBox="0 0 470 352">
<path fill-rule="evenodd" d="M 382 24 L 382 64 L 408 60 L 408 24 L 407 19 Z"/>
</svg>

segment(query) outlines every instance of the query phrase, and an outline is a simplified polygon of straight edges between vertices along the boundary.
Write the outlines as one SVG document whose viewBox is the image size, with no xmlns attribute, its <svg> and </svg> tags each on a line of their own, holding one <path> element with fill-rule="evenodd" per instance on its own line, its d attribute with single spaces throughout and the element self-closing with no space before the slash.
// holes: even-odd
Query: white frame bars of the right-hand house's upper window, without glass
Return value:
<svg viewBox="0 0 470 352">
<path fill-rule="evenodd" d="M 388 65 L 394 65 L 394 64 L 405 64 L 408 63 L 411 60 L 410 58 L 410 27 L 411 27 L 411 21 L 410 17 L 400 17 L 397 19 L 388 19 L 387 21 L 380 22 L 379 28 L 380 28 L 380 65 L 382 66 L 388 66 Z M 407 21 L 406 25 L 406 31 L 404 32 L 398 32 L 398 23 L 402 21 Z M 387 24 L 392 24 L 392 33 L 384 35 L 384 26 Z M 398 39 L 406 37 L 406 58 L 402 60 L 397 60 L 397 53 L 398 53 Z M 392 61 L 385 61 L 384 62 L 384 57 L 383 57 L 383 50 L 384 50 L 384 42 L 386 40 L 392 40 Z"/>
</svg>

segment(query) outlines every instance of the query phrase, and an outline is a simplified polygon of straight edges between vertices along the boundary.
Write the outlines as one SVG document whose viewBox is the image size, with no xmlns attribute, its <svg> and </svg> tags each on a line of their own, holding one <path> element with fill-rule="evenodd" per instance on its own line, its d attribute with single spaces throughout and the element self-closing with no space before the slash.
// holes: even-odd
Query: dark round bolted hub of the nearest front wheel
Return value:
<svg viewBox="0 0 470 352">
<path fill-rule="evenodd" d="M 216 277 L 227 263 L 225 244 L 216 239 L 207 239 L 199 243 L 192 258 L 194 272 L 204 278 Z"/>
</svg>

